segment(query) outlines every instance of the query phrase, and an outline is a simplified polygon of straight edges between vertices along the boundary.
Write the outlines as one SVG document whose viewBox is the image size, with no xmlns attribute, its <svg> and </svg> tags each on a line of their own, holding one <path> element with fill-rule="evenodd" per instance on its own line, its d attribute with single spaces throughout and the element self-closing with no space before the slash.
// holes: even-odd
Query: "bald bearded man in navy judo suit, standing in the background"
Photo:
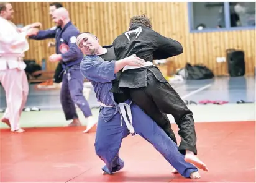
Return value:
<svg viewBox="0 0 256 183">
<path fill-rule="evenodd" d="M 50 62 L 61 62 L 63 67 L 63 81 L 60 92 L 60 101 L 66 120 L 73 119 L 69 126 L 81 126 L 76 113 L 75 104 L 83 111 L 88 118 L 87 129 L 93 127 L 91 109 L 88 101 L 83 96 L 83 75 L 80 72 L 80 62 L 83 53 L 76 46 L 76 36 L 80 33 L 70 20 L 69 13 L 64 7 L 53 12 L 53 22 L 56 27 L 48 30 L 39 30 L 37 35 L 30 36 L 30 39 L 45 40 L 55 38 L 55 54 L 49 58 Z M 87 130 L 86 129 L 86 130 Z"/>
</svg>

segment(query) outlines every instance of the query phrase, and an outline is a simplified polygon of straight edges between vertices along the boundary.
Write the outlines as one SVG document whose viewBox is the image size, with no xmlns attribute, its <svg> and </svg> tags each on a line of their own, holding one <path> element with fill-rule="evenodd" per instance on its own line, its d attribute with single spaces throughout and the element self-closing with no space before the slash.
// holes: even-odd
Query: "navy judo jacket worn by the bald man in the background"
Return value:
<svg viewBox="0 0 256 183">
<path fill-rule="evenodd" d="M 71 22 L 68 22 L 63 29 L 60 27 L 53 27 L 48 30 L 39 30 L 39 33 L 34 36 L 30 36 L 33 40 L 45 40 L 48 38 L 55 38 L 55 49 L 57 54 L 62 56 L 62 66 L 73 66 L 80 64 L 83 59 L 83 53 L 76 46 L 76 36 L 79 34 L 78 28 L 75 27 Z M 65 43 L 68 45 L 69 50 L 66 53 L 60 52 L 60 45 Z"/>
</svg>

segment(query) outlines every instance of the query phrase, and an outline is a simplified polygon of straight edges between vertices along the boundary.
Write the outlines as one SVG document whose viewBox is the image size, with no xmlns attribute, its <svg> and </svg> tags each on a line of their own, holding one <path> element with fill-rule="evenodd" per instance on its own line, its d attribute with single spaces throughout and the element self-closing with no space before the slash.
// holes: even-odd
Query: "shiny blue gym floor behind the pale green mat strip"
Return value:
<svg viewBox="0 0 256 183">
<path fill-rule="evenodd" d="M 186 82 L 171 83 L 173 88 L 188 101 L 221 100 L 236 103 L 239 100 L 255 101 L 254 77 L 216 77 L 207 80 L 188 80 Z M 93 87 L 91 87 L 93 90 Z M 36 106 L 43 110 L 62 109 L 59 98 L 60 90 L 37 90 L 35 85 L 30 85 L 27 107 Z M 94 92 L 88 100 L 89 104 L 99 106 Z M 0 108 L 6 107 L 5 93 L 0 87 Z"/>
</svg>

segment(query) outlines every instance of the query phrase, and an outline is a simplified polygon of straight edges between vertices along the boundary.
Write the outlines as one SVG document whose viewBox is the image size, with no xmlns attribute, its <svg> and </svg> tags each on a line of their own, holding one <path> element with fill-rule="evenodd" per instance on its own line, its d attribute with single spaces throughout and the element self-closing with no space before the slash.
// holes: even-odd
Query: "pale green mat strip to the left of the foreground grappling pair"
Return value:
<svg viewBox="0 0 256 183">
<path fill-rule="evenodd" d="M 99 109 L 92 109 L 94 120 L 98 121 Z M 87 121 L 80 110 L 77 110 L 81 123 L 85 126 Z M 4 113 L 0 113 L 0 119 Z M 63 127 L 68 125 L 70 121 L 66 121 L 63 111 L 37 111 L 23 112 L 20 119 L 21 127 Z M 9 128 L 3 122 L 0 122 L 0 128 Z"/>
</svg>

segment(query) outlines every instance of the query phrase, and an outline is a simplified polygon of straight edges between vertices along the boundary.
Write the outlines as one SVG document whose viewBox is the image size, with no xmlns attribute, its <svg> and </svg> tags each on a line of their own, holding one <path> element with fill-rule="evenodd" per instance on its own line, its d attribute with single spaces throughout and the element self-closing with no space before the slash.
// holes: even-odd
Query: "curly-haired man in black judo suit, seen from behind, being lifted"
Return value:
<svg viewBox="0 0 256 183">
<path fill-rule="evenodd" d="M 153 31 L 150 19 L 142 15 L 132 17 L 129 31 L 117 36 L 113 46 L 117 60 L 135 54 L 146 61 L 144 67 L 124 67 L 117 88 L 128 90 L 132 100 L 176 142 L 165 113 L 173 115 L 180 129 L 179 151 L 185 155 L 186 161 L 208 171 L 206 165 L 195 156 L 197 150 L 193 113 L 160 70 L 152 64 L 153 59 L 167 59 L 183 53 L 181 44 Z M 112 92 L 121 91 L 117 88 L 113 87 Z"/>
</svg>

